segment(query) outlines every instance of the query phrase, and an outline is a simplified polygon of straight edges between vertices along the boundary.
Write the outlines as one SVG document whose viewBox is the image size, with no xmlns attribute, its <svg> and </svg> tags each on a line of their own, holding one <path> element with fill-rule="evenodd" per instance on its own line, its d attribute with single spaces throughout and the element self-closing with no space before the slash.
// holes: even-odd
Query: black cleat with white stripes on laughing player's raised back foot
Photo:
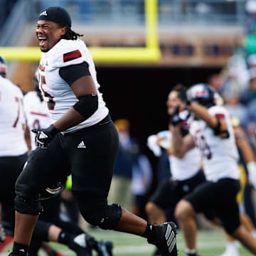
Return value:
<svg viewBox="0 0 256 256">
<path fill-rule="evenodd" d="M 148 242 L 156 245 L 162 256 L 177 256 L 176 225 L 173 222 L 154 226 L 154 237 L 148 238 Z"/>
</svg>

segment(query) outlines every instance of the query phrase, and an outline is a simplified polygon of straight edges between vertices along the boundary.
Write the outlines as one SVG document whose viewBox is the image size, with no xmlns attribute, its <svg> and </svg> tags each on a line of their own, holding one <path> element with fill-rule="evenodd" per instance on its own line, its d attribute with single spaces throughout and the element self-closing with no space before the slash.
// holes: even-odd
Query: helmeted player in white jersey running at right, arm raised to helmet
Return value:
<svg viewBox="0 0 256 256">
<path fill-rule="evenodd" d="M 194 217 L 199 212 L 221 223 L 228 234 L 256 254 L 255 238 L 240 224 L 236 201 L 240 190 L 238 149 L 228 111 L 215 105 L 215 91 L 206 84 L 189 87 L 186 100 L 197 120 L 191 124 L 190 134 L 183 138 L 178 125 L 172 125 L 174 154 L 182 157 L 193 146 L 198 146 L 207 179 L 176 206 L 175 215 L 186 240 L 187 255 L 196 255 Z M 173 122 L 177 119 L 180 117 L 174 116 Z"/>
</svg>

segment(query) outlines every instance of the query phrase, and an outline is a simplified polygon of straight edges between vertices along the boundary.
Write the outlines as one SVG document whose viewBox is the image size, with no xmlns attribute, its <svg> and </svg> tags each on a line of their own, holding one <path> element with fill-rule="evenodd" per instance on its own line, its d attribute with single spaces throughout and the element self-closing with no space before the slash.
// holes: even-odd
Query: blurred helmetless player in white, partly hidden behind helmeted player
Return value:
<svg viewBox="0 0 256 256">
<path fill-rule="evenodd" d="M 169 115 L 174 114 L 177 106 L 181 106 L 179 112 L 182 116 L 188 117 L 179 125 L 181 127 L 182 136 L 188 134 L 191 117 L 186 110 L 186 103 L 182 101 L 182 94 L 185 87 L 176 85 L 169 92 L 166 102 L 167 112 Z M 161 136 L 161 135 L 159 135 Z M 172 141 L 171 132 L 169 132 L 168 140 Z M 161 137 L 159 137 L 161 144 Z M 171 209 L 174 211 L 176 203 L 199 184 L 206 181 L 206 178 L 201 169 L 201 154 L 197 148 L 189 150 L 182 159 L 174 156 L 171 143 L 169 143 L 167 152 L 169 154 L 169 163 L 171 166 L 171 178 L 159 184 L 153 196 L 146 203 L 146 213 L 150 223 L 162 223 L 166 221 L 165 210 Z M 154 255 L 161 255 L 161 252 L 156 250 Z"/>
</svg>

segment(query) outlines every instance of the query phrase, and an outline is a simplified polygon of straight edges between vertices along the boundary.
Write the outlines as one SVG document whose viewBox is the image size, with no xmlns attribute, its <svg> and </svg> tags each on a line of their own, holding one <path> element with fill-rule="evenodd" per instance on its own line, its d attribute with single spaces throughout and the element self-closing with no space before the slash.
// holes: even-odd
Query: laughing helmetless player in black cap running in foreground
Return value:
<svg viewBox="0 0 256 256">
<path fill-rule="evenodd" d="M 41 193 L 72 174 L 80 213 L 92 225 L 147 238 L 163 255 L 177 255 L 174 223 L 153 226 L 118 204 L 109 206 L 118 134 L 102 100 L 85 43 L 61 7 L 41 11 L 39 84 L 52 124 L 35 129 L 36 145 L 16 182 L 16 230 L 11 255 L 25 256 L 41 213 Z"/>
</svg>

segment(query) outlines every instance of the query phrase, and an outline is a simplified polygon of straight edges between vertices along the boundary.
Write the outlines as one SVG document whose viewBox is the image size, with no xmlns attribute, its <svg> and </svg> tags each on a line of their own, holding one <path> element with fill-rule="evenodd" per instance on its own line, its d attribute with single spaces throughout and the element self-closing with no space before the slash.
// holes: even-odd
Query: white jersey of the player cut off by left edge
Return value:
<svg viewBox="0 0 256 256">
<path fill-rule="evenodd" d="M 0 156 L 19 156 L 28 151 L 23 125 L 23 94 L 0 75 Z"/>
</svg>

